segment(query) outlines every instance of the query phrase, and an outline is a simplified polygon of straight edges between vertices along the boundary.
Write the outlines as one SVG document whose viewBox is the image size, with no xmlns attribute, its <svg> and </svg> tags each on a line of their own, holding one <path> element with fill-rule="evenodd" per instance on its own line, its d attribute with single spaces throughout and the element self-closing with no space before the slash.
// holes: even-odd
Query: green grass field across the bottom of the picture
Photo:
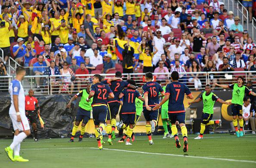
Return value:
<svg viewBox="0 0 256 168">
<path fill-rule="evenodd" d="M 137 136 L 131 146 L 119 144 L 117 138 L 112 146 L 104 144 L 103 150 L 97 149 L 95 138 L 84 138 L 81 143 L 77 142 L 78 138 L 74 143 L 67 142 L 67 138 L 41 139 L 40 142 L 26 139 L 20 155 L 30 159 L 29 162 L 10 161 L 3 149 L 12 140 L 0 139 L 0 168 L 256 167 L 255 135 L 237 138 L 229 134 L 206 134 L 203 140 L 194 140 L 194 137 L 196 135 L 189 135 L 187 153 L 183 153 L 182 143 L 178 149 L 174 139 L 162 139 L 162 135 L 153 136 L 153 146 L 148 144 L 146 136 Z"/>
</svg>

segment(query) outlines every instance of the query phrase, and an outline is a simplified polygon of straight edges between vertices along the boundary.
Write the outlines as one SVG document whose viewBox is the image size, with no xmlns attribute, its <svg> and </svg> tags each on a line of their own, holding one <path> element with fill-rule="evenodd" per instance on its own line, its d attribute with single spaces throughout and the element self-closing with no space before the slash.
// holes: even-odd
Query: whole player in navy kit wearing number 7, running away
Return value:
<svg viewBox="0 0 256 168">
<path fill-rule="evenodd" d="M 160 104 L 156 104 L 156 107 L 153 110 L 159 109 L 159 107 L 165 103 L 169 99 L 168 104 L 168 116 L 172 123 L 172 134 L 175 137 L 176 147 L 180 148 L 181 144 L 178 138 L 178 130 L 176 127 L 176 121 L 179 122 L 181 127 L 181 133 L 184 140 L 183 152 L 187 152 L 188 144 L 187 144 L 187 128 L 185 126 L 185 108 L 183 104 L 184 94 L 187 95 L 187 98 L 193 99 L 193 95 L 190 90 L 181 82 L 178 82 L 179 73 L 177 71 L 173 71 L 171 74 L 172 83 L 169 83 L 166 86 L 165 98 L 162 100 Z"/>
</svg>

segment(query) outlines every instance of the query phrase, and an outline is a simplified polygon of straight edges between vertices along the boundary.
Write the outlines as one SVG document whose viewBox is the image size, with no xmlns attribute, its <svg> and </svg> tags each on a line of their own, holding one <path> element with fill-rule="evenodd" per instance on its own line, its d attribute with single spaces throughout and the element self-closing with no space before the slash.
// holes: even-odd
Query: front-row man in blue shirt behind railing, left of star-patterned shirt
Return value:
<svg viewBox="0 0 256 168">
<path fill-rule="evenodd" d="M 43 55 L 37 55 L 37 62 L 33 65 L 33 72 L 36 76 L 44 75 L 45 67 L 47 64 L 43 61 Z M 40 91 L 41 86 L 41 77 L 35 77 L 36 85 L 37 85 L 37 92 Z"/>
</svg>

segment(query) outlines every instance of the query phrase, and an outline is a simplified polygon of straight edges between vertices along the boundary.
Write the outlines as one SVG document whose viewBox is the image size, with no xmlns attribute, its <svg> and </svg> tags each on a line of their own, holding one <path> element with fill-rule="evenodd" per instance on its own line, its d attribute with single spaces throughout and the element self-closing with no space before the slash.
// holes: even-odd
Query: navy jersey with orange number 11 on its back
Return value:
<svg viewBox="0 0 256 168">
<path fill-rule="evenodd" d="M 134 89 L 124 89 L 123 94 L 123 106 L 121 113 L 136 113 L 135 99 L 141 97 L 140 93 Z"/>
</svg>

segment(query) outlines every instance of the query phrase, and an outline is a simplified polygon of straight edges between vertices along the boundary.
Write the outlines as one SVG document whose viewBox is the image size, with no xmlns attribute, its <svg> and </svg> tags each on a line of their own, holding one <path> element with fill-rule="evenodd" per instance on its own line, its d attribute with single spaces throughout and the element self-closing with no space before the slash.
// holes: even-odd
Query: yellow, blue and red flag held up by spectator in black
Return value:
<svg viewBox="0 0 256 168">
<path fill-rule="evenodd" d="M 123 60 L 123 56 L 122 56 L 122 51 L 124 51 L 124 45 L 127 43 L 127 40 L 120 40 L 119 38 L 115 38 L 114 39 L 114 46 L 116 46 L 116 56 L 122 61 Z M 131 47 L 134 48 L 134 57 L 136 59 L 139 59 L 139 52 L 137 50 L 139 43 L 137 42 L 129 42 Z"/>
</svg>

